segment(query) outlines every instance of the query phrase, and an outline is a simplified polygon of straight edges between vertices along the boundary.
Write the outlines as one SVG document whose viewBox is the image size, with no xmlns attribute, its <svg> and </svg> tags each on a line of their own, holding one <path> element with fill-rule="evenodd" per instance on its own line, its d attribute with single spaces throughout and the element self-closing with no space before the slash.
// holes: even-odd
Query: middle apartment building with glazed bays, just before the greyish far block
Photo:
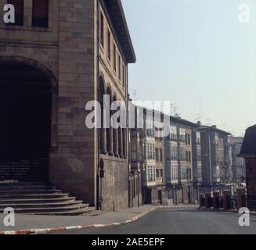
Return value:
<svg viewBox="0 0 256 250">
<path fill-rule="evenodd" d="M 171 116 L 170 124 L 170 135 L 165 140 L 168 200 L 175 204 L 197 202 L 198 181 L 194 177 L 201 175 L 200 140 L 194 140 L 199 126 L 178 116 Z M 193 159 L 197 161 L 193 163 Z"/>
</svg>

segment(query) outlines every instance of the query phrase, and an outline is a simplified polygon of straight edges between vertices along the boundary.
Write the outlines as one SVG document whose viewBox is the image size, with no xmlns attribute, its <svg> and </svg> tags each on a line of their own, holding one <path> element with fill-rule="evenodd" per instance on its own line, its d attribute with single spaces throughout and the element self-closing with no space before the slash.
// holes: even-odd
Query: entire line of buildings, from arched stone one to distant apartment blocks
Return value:
<svg viewBox="0 0 256 250">
<path fill-rule="evenodd" d="M 141 129 L 85 126 L 85 105 L 104 95 L 128 110 L 136 57 L 121 0 L 0 0 L 0 9 L 7 3 L 16 16 L 0 19 L 0 181 L 51 183 L 115 211 L 197 202 L 198 187 L 232 180 L 238 149 L 216 127 L 171 116 L 168 137 L 146 118 Z"/>
</svg>

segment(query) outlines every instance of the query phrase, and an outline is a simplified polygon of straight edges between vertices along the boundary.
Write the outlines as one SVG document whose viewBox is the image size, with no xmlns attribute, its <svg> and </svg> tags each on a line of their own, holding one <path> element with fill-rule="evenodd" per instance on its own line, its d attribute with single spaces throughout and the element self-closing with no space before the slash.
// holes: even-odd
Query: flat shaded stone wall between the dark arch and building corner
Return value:
<svg viewBox="0 0 256 250">
<path fill-rule="evenodd" d="M 96 5 L 93 0 L 59 3 L 58 148 L 50 180 L 96 205 L 96 131 L 85 127 L 85 105 L 96 99 Z"/>
</svg>

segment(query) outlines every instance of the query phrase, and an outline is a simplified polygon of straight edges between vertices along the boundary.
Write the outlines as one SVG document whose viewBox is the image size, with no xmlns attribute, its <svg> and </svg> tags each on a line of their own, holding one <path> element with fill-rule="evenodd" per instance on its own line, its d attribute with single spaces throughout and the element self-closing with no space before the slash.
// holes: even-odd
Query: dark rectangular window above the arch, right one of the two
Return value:
<svg viewBox="0 0 256 250">
<path fill-rule="evenodd" d="M 49 0 L 33 0 L 32 26 L 49 26 Z"/>
</svg>

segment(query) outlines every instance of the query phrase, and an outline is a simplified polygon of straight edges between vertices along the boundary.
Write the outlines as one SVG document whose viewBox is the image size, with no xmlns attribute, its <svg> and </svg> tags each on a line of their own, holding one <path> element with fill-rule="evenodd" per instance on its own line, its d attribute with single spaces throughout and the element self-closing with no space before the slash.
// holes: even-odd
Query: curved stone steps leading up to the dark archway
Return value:
<svg viewBox="0 0 256 250">
<path fill-rule="evenodd" d="M 99 213 L 48 183 L 0 182 L 0 213 L 7 207 L 15 213 L 35 215 L 96 216 Z"/>
</svg>

